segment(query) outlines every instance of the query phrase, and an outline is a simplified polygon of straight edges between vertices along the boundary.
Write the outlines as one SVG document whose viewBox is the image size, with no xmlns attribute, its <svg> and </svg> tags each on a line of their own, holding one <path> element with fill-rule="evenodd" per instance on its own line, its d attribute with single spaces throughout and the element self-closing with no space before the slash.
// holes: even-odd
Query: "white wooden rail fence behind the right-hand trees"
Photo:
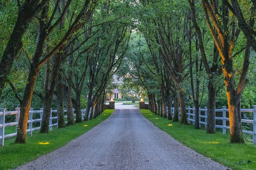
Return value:
<svg viewBox="0 0 256 170">
<path fill-rule="evenodd" d="M 187 115 L 188 115 L 188 123 L 193 123 L 195 125 L 195 107 L 186 107 Z M 167 107 L 168 111 L 168 107 Z M 243 133 L 248 133 L 252 135 L 252 143 L 256 145 L 256 106 L 253 106 L 253 109 L 241 109 L 241 112 L 252 112 L 253 116 L 252 119 L 242 119 L 242 123 L 252 124 L 252 131 L 243 130 Z M 226 106 L 222 106 L 222 109 L 215 109 L 215 113 L 222 116 L 215 116 L 215 121 L 219 120 L 220 124 L 216 124 L 216 128 L 221 128 L 222 133 L 226 134 L 226 130 L 230 129 L 229 127 L 229 118 L 228 118 L 228 109 Z M 174 107 L 172 107 L 172 116 L 174 115 Z M 215 114 L 216 115 L 216 114 Z M 180 110 L 179 110 L 179 117 L 180 117 Z M 199 127 L 204 125 L 204 128 L 207 127 L 207 107 L 201 108 L 199 107 Z"/>
</svg>

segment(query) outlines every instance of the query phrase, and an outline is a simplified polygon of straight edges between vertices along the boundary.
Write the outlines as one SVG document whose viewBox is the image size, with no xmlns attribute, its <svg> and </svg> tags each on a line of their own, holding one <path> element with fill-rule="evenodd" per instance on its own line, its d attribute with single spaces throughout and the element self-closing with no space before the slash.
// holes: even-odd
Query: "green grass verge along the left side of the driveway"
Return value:
<svg viewBox="0 0 256 170">
<path fill-rule="evenodd" d="M 114 109 L 107 109 L 96 119 L 76 123 L 74 126 L 67 126 L 62 129 L 53 128 L 47 134 L 34 131 L 33 135 L 29 136 L 27 133 L 24 144 L 15 144 L 15 137 L 5 140 L 4 147 L 0 147 L 0 170 L 16 168 L 63 147 L 69 141 L 76 139 L 107 119 L 113 111 Z"/>
</svg>

